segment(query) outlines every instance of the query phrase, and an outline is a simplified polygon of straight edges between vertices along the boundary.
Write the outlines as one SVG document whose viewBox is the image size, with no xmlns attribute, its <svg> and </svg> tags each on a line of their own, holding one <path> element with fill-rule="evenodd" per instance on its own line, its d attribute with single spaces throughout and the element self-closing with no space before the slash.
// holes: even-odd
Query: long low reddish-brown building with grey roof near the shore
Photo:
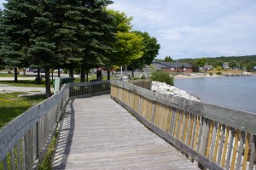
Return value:
<svg viewBox="0 0 256 170">
<path fill-rule="evenodd" d="M 159 68 L 160 70 L 168 73 L 172 72 L 186 72 L 190 73 L 192 72 L 192 65 L 189 65 L 187 63 L 171 63 L 171 62 L 156 62 L 153 61 L 152 65 L 154 67 Z"/>
</svg>

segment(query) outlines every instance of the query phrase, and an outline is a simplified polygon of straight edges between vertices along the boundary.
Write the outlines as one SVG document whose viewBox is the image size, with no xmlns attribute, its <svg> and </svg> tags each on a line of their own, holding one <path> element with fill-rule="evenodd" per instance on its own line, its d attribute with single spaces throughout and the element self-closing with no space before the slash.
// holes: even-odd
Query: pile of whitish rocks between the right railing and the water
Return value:
<svg viewBox="0 0 256 170">
<path fill-rule="evenodd" d="M 170 94 L 174 96 L 183 97 L 185 99 L 200 101 L 200 99 L 195 96 L 188 94 L 186 91 L 170 86 L 165 82 L 152 82 L 152 91 L 158 92 L 160 94 Z"/>
</svg>

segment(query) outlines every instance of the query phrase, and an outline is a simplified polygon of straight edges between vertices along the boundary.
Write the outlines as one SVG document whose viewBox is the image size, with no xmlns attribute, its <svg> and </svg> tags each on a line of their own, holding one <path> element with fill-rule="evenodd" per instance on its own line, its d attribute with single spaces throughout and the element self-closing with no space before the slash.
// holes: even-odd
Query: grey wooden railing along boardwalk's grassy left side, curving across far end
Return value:
<svg viewBox="0 0 256 170">
<path fill-rule="evenodd" d="M 109 94 L 109 81 L 65 84 L 0 129 L 0 170 L 37 169 L 70 99 Z"/>
</svg>

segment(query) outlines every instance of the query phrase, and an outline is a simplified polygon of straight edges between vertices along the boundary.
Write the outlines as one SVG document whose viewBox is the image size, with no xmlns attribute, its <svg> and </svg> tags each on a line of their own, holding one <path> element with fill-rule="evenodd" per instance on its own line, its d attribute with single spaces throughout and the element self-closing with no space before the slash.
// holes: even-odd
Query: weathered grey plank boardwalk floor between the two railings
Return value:
<svg viewBox="0 0 256 170">
<path fill-rule="evenodd" d="M 109 95 L 67 105 L 54 169 L 199 169 Z"/>
</svg>

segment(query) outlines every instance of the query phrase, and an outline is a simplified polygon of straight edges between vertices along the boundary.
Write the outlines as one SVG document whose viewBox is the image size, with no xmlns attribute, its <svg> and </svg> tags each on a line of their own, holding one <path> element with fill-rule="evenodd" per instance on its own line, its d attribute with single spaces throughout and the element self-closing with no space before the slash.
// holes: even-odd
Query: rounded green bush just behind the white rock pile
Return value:
<svg viewBox="0 0 256 170">
<path fill-rule="evenodd" d="M 169 84 L 171 86 L 174 85 L 173 77 L 170 77 L 170 75 L 163 71 L 154 71 L 151 73 L 150 79 L 152 81 L 156 82 L 166 82 L 166 84 Z"/>
</svg>

